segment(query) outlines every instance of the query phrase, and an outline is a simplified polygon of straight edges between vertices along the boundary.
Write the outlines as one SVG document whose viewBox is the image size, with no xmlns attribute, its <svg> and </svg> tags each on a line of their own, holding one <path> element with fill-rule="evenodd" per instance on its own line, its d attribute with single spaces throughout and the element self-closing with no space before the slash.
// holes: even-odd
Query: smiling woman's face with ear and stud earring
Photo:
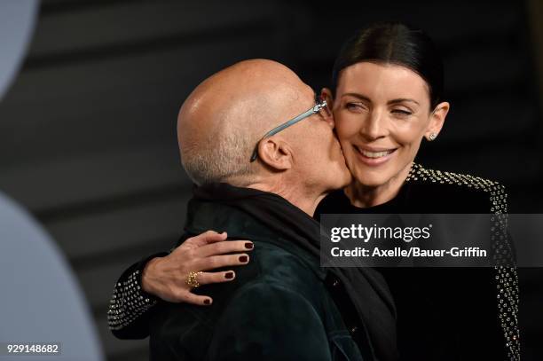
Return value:
<svg viewBox="0 0 543 361">
<path fill-rule="evenodd" d="M 407 176 L 422 137 L 439 133 L 448 103 L 430 112 L 427 83 L 397 65 L 361 62 L 342 70 L 334 119 L 353 177 L 378 187 Z"/>
</svg>

